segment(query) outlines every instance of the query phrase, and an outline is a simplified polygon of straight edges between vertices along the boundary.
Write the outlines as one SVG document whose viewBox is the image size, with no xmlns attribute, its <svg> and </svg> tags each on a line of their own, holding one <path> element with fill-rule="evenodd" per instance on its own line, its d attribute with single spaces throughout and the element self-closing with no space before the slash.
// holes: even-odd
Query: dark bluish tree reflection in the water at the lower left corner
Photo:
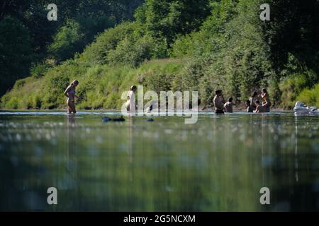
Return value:
<svg viewBox="0 0 319 226">
<path fill-rule="evenodd" d="M 13 123 L 21 123 L 14 131 L 11 126 L 0 131 L 4 136 L 11 137 L 21 134 L 20 141 L 0 140 L 5 150 L 0 151 L 0 210 L 43 211 L 47 205 L 47 186 L 39 184 L 38 177 L 42 177 L 47 169 L 34 164 L 43 160 L 37 152 L 36 142 L 24 140 L 25 135 L 34 138 L 38 130 L 35 123 L 25 126 L 20 120 L 9 119 Z"/>
</svg>

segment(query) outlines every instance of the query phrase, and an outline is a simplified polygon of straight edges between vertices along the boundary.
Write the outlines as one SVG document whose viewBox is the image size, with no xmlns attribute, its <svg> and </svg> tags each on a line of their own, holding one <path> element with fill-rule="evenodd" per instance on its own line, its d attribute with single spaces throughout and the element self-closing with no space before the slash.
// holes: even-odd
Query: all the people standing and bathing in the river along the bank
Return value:
<svg viewBox="0 0 319 226">
<path fill-rule="evenodd" d="M 76 113 L 74 100 L 75 98 L 81 99 L 81 97 L 78 97 L 75 95 L 75 89 L 77 88 L 77 85 L 79 85 L 79 81 L 74 80 L 72 83 L 67 87 L 65 90 L 65 96 L 67 97 L 67 106 L 68 110 L 67 112 L 69 114 Z M 130 88 L 130 91 L 128 91 L 128 100 L 125 103 L 125 108 L 128 110 L 128 112 L 135 109 L 135 92 L 137 90 L 137 87 L 135 85 L 132 85 Z M 262 103 L 260 103 L 260 100 L 262 100 Z M 223 97 L 223 91 L 222 90 L 216 90 L 216 96 L 213 99 L 213 103 L 215 105 L 216 114 L 224 114 L 224 112 L 233 113 L 233 106 L 235 104 L 233 103 L 233 97 L 230 97 L 227 102 L 225 102 L 225 99 Z M 245 105 L 247 107 L 247 112 L 254 112 L 254 113 L 262 113 L 262 112 L 270 112 L 270 106 L 272 105 L 270 102 L 269 95 L 267 93 L 266 89 L 262 89 L 262 92 L 258 94 L 257 91 L 252 93 L 252 96 L 250 97 L 250 100 L 246 100 Z M 151 111 L 152 109 L 150 109 Z"/>
</svg>

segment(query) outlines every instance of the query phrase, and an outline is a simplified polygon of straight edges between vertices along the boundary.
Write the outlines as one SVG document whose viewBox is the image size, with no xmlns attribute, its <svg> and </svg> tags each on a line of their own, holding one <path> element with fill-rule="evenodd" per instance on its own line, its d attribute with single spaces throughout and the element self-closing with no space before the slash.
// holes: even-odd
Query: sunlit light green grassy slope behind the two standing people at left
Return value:
<svg viewBox="0 0 319 226">
<path fill-rule="evenodd" d="M 157 59 L 146 61 L 138 68 L 133 66 L 108 66 L 96 64 L 85 66 L 75 59 L 47 71 L 45 76 L 30 76 L 16 83 L 1 98 L 3 109 L 60 109 L 66 107 L 63 95 L 67 85 L 79 80 L 77 102 L 79 109 L 121 109 L 121 94 L 131 85 L 153 88 L 153 77 L 167 75 L 174 78 L 184 66 L 180 59 Z"/>
</svg>

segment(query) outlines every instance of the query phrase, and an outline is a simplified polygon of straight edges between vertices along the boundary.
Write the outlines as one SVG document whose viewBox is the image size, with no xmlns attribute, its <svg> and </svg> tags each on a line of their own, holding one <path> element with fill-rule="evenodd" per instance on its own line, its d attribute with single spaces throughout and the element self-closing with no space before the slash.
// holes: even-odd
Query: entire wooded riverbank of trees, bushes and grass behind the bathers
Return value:
<svg viewBox="0 0 319 226">
<path fill-rule="evenodd" d="M 47 5 L 58 8 L 47 20 Z M 259 6 L 270 5 L 270 21 Z M 0 4 L 0 95 L 6 109 L 119 109 L 130 85 L 216 89 L 245 101 L 268 88 L 276 107 L 319 106 L 319 1 L 80 0 Z"/>
</svg>

